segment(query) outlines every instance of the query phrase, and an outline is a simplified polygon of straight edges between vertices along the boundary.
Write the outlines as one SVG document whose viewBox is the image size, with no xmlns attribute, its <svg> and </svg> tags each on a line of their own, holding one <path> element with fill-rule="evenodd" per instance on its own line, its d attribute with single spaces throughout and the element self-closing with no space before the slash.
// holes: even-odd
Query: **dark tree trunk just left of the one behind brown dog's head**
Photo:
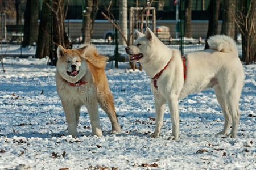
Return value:
<svg viewBox="0 0 256 170">
<path fill-rule="evenodd" d="M 51 9 L 49 8 L 51 4 L 50 0 L 44 0 L 42 6 L 42 12 L 40 16 L 40 25 L 38 33 L 38 42 L 36 43 L 36 57 L 43 58 L 50 56 L 50 44 L 51 44 Z M 49 6 L 48 6 L 49 5 Z"/>
</svg>

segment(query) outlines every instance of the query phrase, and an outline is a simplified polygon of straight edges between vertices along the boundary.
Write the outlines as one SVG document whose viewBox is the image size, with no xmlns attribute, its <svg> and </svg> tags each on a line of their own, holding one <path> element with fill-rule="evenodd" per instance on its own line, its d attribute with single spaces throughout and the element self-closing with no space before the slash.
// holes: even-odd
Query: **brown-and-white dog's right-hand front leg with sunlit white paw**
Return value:
<svg viewBox="0 0 256 170">
<path fill-rule="evenodd" d="M 87 107 L 88 113 L 90 115 L 90 124 L 92 125 L 93 135 L 97 135 L 98 137 L 102 137 L 100 117 L 98 116 L 97 100 L 89 101 L 88 103 L 86 103 L 86 107 Z"/>
</svg>

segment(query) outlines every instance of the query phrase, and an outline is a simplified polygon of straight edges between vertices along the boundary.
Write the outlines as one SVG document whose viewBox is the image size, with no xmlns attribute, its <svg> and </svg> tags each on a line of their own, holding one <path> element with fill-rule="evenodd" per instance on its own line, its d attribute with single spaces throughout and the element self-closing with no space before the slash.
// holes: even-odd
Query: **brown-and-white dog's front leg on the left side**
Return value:
<svg viewBox="0 0 256 170">
<path fill-rule="evenodd" d="M 76 113 L 75 107 L 66 101 L 62 101 L 62 107 L 65 112 L 66 120 L 68 122 L 68 134 L 76 137 Z"/>
</svg>

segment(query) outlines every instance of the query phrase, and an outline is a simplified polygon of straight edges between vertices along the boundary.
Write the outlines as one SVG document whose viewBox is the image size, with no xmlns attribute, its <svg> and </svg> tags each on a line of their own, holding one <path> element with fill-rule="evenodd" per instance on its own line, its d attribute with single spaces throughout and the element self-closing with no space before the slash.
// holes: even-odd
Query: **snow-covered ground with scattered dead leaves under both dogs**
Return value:
<svg viewBox="0 0 256 170">
<path fill-rule="evenodd" d="M 100 109 L 104 137 L 92 136 L 86 107 L 74 139 L 57 96 L 55 67 L 47 59 L 5 59 L 0 73 L 0 169 L 255 169 L 256 65 L 244 66 L 246 80 L 237 138 L 216 135 L 224 118 L 212 90 L 180 100 L 180 140 L 168 141 L 168 108 L 159 138 L 154 97 L 144 71 L 109 69 L 122 134 L 110 134 Z"/>
</svg>

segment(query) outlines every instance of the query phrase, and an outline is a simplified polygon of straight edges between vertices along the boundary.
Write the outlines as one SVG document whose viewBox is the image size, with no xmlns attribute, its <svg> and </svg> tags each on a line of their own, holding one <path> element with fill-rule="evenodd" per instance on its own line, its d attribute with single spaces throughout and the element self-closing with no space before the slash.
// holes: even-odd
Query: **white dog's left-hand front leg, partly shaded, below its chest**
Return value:
<svg viewBox="0 0 256 170">
<path fill-rule="evenodd" d="M 150 135 L 151 138 L 159 137 L 160 130 L 163 126 L 164 108 L 166 99 L 158 92 L 153 92 L 155 97 L 155 131 Z"/>
</svg>

